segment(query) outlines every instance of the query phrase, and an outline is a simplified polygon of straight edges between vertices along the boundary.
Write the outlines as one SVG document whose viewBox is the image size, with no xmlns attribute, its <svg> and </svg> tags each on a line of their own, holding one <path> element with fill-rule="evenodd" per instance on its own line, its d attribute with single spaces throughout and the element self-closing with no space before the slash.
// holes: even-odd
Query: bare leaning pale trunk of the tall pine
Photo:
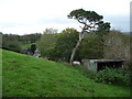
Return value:
<svg viewBox="0 0 132 99">
<path fill-rule="evenodd" d="M 74 57 L 75 57 L 76 51 L 77 51 L 77 48 L 79 47 L 82 37 L 84 37 L 84 35 L 82 35 L 82 32 L 81 32 L 81 33 L 79 33 L 79 40 L 77 41 L 77 44 L 76 44 L 76 46 L 75 46 L 75 48 L 73 50 L 72 55 L 70 55 L 70 59 L 69 59 L 69 65 L 70 65 L 70 66 L 73 66 L 73 62 L 74 62 Z"/>
</svg>

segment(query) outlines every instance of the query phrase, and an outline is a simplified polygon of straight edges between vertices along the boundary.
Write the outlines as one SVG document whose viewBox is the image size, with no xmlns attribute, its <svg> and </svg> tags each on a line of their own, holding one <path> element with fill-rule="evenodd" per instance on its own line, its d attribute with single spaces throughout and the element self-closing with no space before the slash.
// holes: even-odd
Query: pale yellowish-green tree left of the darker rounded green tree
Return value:
<svg viewBox="0 0 132 99">
<path fill-rule="evenodd" d="M 56 33 L 57 31 L 54 29 L 45 29 L 41 40 L 36 42 L 41 56 L 50 57 L 50 51 L 54 48 L 56 42 Z"/>
</svg>

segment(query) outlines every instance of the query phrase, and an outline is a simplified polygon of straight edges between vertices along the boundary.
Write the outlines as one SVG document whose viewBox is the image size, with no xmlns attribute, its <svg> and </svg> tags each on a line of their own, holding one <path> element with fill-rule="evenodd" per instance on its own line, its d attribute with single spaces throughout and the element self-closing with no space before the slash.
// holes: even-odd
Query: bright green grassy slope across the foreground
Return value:
<svg viewBox="0 0 132 99">
<path fill-rule="evenodd" d="M 91 97 L 90 79 L 55 62 L 3 51 L 3 97 Z M 94 82 L 94 81 L 92 81 Z M 96 97 L 130 96 L 129 88 L 94 82 Z"/>
</svg>

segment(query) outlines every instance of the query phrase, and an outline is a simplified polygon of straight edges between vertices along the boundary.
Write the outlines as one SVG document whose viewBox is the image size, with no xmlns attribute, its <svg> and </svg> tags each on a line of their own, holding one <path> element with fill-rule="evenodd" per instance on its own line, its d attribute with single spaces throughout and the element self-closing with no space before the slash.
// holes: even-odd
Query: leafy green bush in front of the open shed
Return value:
<svg viewBox="0 0 132 99">
<path fill-rule="evenodd" d="M 95 80 L 107 84 L 131 85 L 131 73 L 121 68 L 106 68 L 97 73 Z"/>
</svg>

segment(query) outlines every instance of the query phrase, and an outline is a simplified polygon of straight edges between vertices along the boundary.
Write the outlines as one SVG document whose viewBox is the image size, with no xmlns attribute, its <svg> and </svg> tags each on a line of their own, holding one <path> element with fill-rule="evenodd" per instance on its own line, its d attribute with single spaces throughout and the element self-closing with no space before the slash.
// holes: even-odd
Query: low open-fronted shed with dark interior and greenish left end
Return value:
<svg viewBox="0 0 132 99">
<path fill-rule="evenodd" d="M 82 65 L 92 72 L 99 72 L 106 67 L 123 68 L 123 59 L 82 59 Z"/>
</svg>

